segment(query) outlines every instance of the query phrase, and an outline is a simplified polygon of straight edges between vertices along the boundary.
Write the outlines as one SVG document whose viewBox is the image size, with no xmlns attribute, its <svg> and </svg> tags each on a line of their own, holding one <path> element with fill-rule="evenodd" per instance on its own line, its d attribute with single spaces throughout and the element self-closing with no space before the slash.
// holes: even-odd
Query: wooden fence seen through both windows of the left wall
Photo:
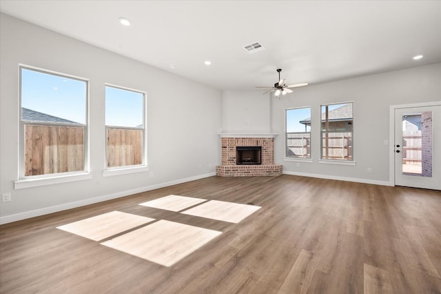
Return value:
<svg viewBox="0 0 441 294">
<path fill-rule="evenodd" d="M 25 124 L 25 176 L 84 170 L 84 126 Z M 107 128 L 107 166 L 143 163 L 143 130 Z"/>
</svg>

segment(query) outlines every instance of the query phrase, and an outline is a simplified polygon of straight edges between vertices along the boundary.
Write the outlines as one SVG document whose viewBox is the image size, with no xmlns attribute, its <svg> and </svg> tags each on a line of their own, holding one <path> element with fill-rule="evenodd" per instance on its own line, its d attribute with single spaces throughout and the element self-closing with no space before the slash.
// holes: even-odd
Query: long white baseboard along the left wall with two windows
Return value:
<svg viewBox="0 0 441 294">
<path fill-rule="evenodd" d="M 49 213 L 57 213 L 62 210 L 67 210 L 67 209 L 71 209 L 71 208 L 76 208 L 76 207 L 80 207 L 80 206 L 85 206 L 85 205 L 89 205 L 89 204 L 112 200 L 112 199 L 116 199 L 116 198 L 120 198 L 120 197 L 133 195 L 136 193 L 142 193 L 142 192 L 146 192 L 146 191 L 150 191 L 150 190 L 156 190 L 159 188 L 164 188 L 164 187 L 182 184 L 182 183 L 186 183 L 186 182 L 192 182 L 192 181 L 195 181 L 196 179 L 203 179 L 205 177 L 212 177 L 214 175 L 216 175 L 216 173 L 207 173 L 205 175 L 197 175 L 194 177 L 187 177 L 185 179 L 176 179 L 175 181 L 171 181 L 171 182 L 155 184 L 155 185 L 146 186 L 146 187 L 142 187 L 142 188 L 136 188 L 136 189 L 132 189 L 132 190 L 125 190 L 125 191 L 121 191 L 118 193 L 102 195 L 99 197 L 93 197 L 93 198 L 84 199 L 84 200 L 80 200 L 80 201 L 76 201 L 76 202 L 69 202 L 69 203 L 65 203 L 65 204 L 40 208 L 40 209 L 36 209 L 36 210 L 25 211 L 24 213 L 17 213 L 14 215 L 6 215 L 4 217 L 0 217 L 0 224 L 8 224 L 10 222 L 17 222 L 22 219 L 28 219 L 31 217 L 39 217 L 41 215 L 47 215 Z"/>
</svg>

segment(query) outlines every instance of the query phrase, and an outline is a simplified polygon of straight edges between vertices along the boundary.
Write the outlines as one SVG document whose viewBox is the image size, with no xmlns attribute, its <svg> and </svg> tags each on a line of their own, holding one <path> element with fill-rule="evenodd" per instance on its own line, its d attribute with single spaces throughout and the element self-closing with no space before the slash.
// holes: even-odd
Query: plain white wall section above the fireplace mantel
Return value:
<svg viewBox="0 0 441 294">
<path fill-rule="evenodd" d="M 222 98 L 222 133 L 269 133 L 268 95 L 258 90 L 225 90 Z"/>
</svg>

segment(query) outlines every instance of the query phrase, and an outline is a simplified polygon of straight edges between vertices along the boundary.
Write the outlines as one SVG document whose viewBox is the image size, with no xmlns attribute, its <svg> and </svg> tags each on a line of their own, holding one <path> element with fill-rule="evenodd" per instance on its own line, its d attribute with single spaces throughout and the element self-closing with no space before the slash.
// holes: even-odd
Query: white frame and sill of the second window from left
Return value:
<svg viewBox="0 0 441 294">
<path fill-rule="evenodd" d="M 105 146 L 105 152 L 104 152 L 104 170 L 103 170 L 103 177 L 108 177 L 112 175 L 125 175 L 130 173 L 141 173 L 146 172 L 149 170 L 149 167 L 147 165 L 147 92 L 142 90 L 136 90 L 133 88 L 127 88 L 123 86 L 118 86 L 114 84 L 104 84 L 104 92 L 105 87 L 111 87 L 131 92 L 140 93 L 143 95 L 143 148 L 142 148 L 142 164 L 136 164 L 131 166 L 113 166 L 113 167 L 107 167 L 107 128 L 123 128 L 123 129 L 130 129 L 130 130 L 141 130 L 141 128 L 130 128 L 130 127 L 123 127 L 123 126 L 107 126 L 104 124 L 104 146 Z M 106 97 L 104 97 L 105 99 Z M 104 112 L 105 114 L 105 112 Z"/>
</svg>

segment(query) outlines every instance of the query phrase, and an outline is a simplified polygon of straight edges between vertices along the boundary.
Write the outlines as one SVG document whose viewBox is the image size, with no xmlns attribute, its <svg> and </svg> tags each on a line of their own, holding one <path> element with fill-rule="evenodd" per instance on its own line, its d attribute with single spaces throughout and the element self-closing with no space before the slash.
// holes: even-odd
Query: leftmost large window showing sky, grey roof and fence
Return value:
<svg viewBox="0 0 441 294">
<path fill-rule="evenodd" d="M 19 70 L 20 178 L 85 171 L 88 81 Z"/>
</svg>

